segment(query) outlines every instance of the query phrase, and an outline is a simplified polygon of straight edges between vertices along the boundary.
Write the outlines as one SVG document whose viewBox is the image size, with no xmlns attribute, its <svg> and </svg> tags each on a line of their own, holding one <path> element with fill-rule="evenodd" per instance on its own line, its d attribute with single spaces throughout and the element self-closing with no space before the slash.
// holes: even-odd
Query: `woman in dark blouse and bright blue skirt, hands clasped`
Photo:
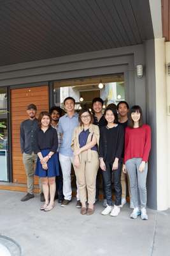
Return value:
<svg viewBox="0 0 170 256">
<path fill-rule="evenodd" d="M 34 152 L 38 154 L 35 175 L 41 178 L 45 195 L 45 204 L 41 206 L 40 210 L 51 211 L 54 206 L 55 177 L 59 175 L 58 136 L 56 129 L 51 126 L 51 116 L 48 112 L 41 112 L 38 122 L 39 128 L 36 131 L 34 145 Z"/>
</svg>

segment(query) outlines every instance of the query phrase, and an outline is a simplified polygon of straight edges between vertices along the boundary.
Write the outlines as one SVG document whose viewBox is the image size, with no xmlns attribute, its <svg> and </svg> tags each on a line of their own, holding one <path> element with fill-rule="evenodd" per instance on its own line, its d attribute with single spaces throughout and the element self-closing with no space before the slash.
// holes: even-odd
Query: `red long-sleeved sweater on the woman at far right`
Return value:
<svg viewBox="0 0 170 256">
<path fill-rule="evenodd" d="M 126 127 L 124 163 L 133 157 L 147 162 L 151 148 L 151 129 L 149 125 L 139 128 Z"/>
</svg>

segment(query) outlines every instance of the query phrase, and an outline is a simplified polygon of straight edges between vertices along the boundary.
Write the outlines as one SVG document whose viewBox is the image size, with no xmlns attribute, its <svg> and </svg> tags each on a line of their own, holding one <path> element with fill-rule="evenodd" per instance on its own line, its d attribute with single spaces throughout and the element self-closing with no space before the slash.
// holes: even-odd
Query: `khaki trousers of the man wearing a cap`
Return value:
<svg viewBox="0 0 170 256">
<path fill-rule="evenodd" d="M 25 173 L 27 175 L 27 192 L 34 193 L 34 171 L 38 156 L 32 152 L 32 154 L 22 154 L 22 160 L 25 167 Z M 43 191 L 41 188 L 41 182 L 39 179 L 40 193 Z"/>
</svg>

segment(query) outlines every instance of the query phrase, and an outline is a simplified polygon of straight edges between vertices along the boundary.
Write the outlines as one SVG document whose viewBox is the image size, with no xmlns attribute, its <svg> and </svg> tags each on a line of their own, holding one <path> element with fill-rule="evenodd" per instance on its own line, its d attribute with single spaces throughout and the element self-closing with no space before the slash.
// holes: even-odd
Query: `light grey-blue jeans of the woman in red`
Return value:
<svg viewBox="0 0 170 256">
<path fill-rule="evenodd" d="M 129 175 L 131 186 L 131 198 L 134 207 L 146 207 L 146 177 L 148 173 L 148 163 L 145 164 L 145 170 L 139 172 L 141 158 L 132 158 L 126 161 L 125 166 Z M 138 193 L 139 190 L 139 193 Z"/>
</svg>

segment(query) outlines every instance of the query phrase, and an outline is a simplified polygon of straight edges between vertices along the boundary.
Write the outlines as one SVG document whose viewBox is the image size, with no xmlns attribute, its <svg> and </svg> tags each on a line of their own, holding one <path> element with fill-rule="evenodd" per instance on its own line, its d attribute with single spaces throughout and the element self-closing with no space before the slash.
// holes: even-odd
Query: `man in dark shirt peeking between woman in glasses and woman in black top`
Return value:
<svg viewBox="0 0 170 256">
<path fill-rule="evenodd" d="M 104 118 L 104 115 L 102 113 L 103 104 L 104 104 L 103 99 L 101 99 L 100 97 L 96 97 L 92 100 L 92 110 L 94 113 L 93 124 L 98 125 L 99 129 L 107 124 Z M 99 200 L 99 183 L 101 179 L 102 179 L 101 168 L 99 168 L 99 171 L 97 173 L 97 178 L 96 178 L 96 201 Z M 103 188 L 104 188 L 104 184 L 103 184 Z M 106 207 L 107 201 L 106 201 L 104 189 L 103 189 L 103 196 L 104 196 L 103 207 Z"/>
</svg>

